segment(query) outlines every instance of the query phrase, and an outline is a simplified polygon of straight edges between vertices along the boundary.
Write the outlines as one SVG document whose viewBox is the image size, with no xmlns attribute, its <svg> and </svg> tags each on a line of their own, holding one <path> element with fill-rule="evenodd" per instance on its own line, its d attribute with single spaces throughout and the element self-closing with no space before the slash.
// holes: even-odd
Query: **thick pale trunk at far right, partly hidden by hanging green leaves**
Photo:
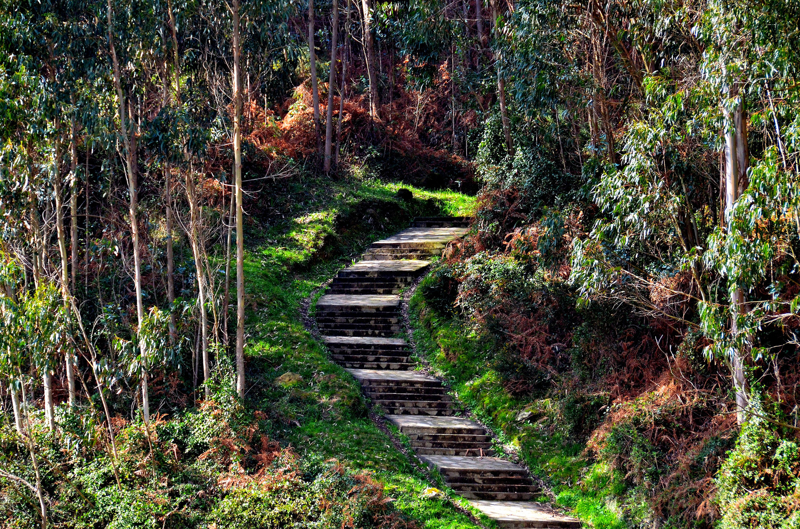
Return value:
<svg viewBox="0 0 800 529">
<path fill-rule="evenodd" d="M 738 87 L 732 89 L 736 96 Z M 743 96 L 739 94 L 740 97 Z M 734 205 L 744 189 L 747 187 L 747 166 L 750 164 L 750 154 L 747 146 L 747 130 L 744 103 L 741 101 L 731 112 L 725 110 L 727 127 L 725 131 L 725 215 L 728 230 L 732 228 L 730 214 Z M 730 332 L 737 336 L 740 332 L 738 328 L 738 316 L 746 311 L 745 296 L 742 288 L 736 288 L 730 296 Z M 739 424 L 746 419 L 746 410 L 749 407 L 749 395 L 746 387 L 745 376 L 745 355 L 746 351 L 734 349 L 730 358 L 730 372 L 733 378 L 734 391 L 736 392 L 736 417 Z"/>
</svg>

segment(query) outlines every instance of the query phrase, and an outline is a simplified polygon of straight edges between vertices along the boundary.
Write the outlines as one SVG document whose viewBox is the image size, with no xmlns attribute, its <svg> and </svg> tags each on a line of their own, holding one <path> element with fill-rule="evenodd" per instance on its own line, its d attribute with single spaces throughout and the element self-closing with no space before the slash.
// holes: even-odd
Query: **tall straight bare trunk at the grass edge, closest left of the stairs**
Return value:
<svg viewBox="0 0 800 529">
<path fill-rule="evenodd" d="M 239 2 L 234 14 L 234 164 L 236 165 L 236 391 L 245 396 L 245 247 L 242 225 L 242 84 L 239 72 Z M 312 54 L 314 48 L 312 46 Z M 312 72 L 314 69 L 312 68 Z"/>
</svg>

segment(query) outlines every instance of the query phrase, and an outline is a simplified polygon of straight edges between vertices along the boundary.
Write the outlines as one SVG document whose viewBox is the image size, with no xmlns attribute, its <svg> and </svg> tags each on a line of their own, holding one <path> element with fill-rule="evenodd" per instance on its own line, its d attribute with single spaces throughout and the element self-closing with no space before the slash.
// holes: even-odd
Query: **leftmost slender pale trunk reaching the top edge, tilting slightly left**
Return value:
<svg viewBox="0 0 800 529">
<path fill-rule="evenodd" d="M 136 287 L 136 316 L 138 321 L 137 334 L 142 332 L 142 321 L 145 318 L 145 309 L 142 304 L 142 258 L 139 255 L 139 228 L 136 217 L 136 210 L 138 209 L 138 195 L 136 183 L 136 151 L 134 141 L 130 137 L 128 126 L 125 119 L 125 94 L 122 92 L 122 74 L 119 70 L 119 61 L 117 58 L 117 51 L 114 50 L 114 20 L 113 12 L 111 9 L 111 0 L 108 0 L 108 9 L 106 10 L 106 18 L 108 18 L 108 45 L 111 54 L 111 61 L 114 65 L 114 87 L 117 89 L 118 98 L 118 118 L 119 118 L 119 131 L 122 134 L 122 143 L 125 146 L 125 163 L 126 171 L 128 173 L 128 194 L 129 194 L 129 213 L 130 213 L 130 233 L 133 238 L 134 245 L 134 284 Z M 131 122 L 131 126 L 133 123 Z M 139 336 L 139 347 L 142 356 L 142 418 L 145 424 L 150 424 L 150 393 L 147 390 L 147 350 L 144 340 Z"/>
</svg>

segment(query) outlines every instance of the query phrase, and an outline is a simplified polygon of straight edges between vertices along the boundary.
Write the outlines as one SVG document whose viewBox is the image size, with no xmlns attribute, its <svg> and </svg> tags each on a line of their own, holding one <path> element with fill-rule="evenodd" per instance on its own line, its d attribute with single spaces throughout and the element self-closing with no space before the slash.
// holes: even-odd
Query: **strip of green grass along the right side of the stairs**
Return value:
<svg viewBox="0 0 800 529">
<path fill-rule="evenodd" d="M 428 290 L 426 283 L 434 281 L 434 274 L 426 277 L 410 302 L 418 355 L 450 381 L 466 408 L 494 429 L 504 451 L 520 455 L 530 471 L 549 484 L 557 506 L 596 529 L 627 527 L 614 503 L 625 492 L 622 475 L 582 457 L 582 443 L 570 440 L 558 428 L 554 399 L 520 400 L 506 391 L 498 372 L 490 368 L 494 344 L 470 330 L 466 322 L 429 305 L 423 292 Z M 534 413 L 533 420 L 518 421 L 518 413 L 527 411 Z M 546 496 L 540 501 L 547 501 Z"/>
</svg>

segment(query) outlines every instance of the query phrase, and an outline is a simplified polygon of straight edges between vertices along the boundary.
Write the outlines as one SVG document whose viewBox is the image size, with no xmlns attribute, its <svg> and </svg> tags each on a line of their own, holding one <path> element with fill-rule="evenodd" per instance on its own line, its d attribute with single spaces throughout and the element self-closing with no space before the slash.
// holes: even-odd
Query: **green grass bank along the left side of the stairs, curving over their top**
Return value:
<svg viewBox="0 0 800 529">
<path fill-rule="evenodd" d="M 400 187 L 411 189 L 414 201 L 395 199 Z M 452 503 L 420 496 L 430 487 L 425 476 L 369 420 L 358 383 L 327 358 L 300 317 L 302 300 L 370 242 L 405 229 L 415 216 L 469 215 L 474 197 L 354 177 L 298 182 L 270 207 L 282 218 L 248 226 L 245 265 L 247 399 L 266 413 L 266 431 L 302 458 L 335 458 L 371 472 L 420 527 L 476 527 Z M 274 381 L 286 372 L 302 381 Z"/>
</svg>

